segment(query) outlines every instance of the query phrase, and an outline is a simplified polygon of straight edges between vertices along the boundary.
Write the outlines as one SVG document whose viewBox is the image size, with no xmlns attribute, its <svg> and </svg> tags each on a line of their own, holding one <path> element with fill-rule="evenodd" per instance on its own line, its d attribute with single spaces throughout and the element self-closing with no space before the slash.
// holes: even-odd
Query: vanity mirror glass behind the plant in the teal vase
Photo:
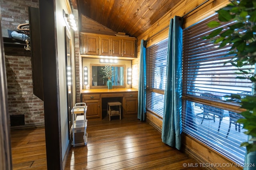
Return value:
<svg viewBox="0 0 256 170">
<path fill-rule="evenodd" d="M 106 86 L 107 78 L 103 78 L 104 73 L 102 68 L 105 65 L 91 66 L 91 87 L 93 86 Z M 124 66 L 112 66 L 114 75 L 112 76 L 112 86 L 124 86 Z"/>
</svg>

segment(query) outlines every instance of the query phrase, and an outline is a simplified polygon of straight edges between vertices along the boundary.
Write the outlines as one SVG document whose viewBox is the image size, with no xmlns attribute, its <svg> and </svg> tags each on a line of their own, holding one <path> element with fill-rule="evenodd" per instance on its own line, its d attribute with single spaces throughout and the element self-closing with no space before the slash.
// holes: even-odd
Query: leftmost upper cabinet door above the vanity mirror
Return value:
<svg viewBox="0 0 256 170">
<path fill-rule="evenodd" d="M 84 35 L 85 54 L 99 55 L 99 37 Z"/>
</svg>

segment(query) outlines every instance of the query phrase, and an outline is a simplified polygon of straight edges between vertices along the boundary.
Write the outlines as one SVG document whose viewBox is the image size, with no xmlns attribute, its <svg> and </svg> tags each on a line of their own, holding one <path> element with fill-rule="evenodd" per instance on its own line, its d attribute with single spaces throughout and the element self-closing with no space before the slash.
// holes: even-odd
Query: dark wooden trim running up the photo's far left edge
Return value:
<svg viewBox="0 0 256 170">
<path fill-rule="evenodd" d="M 1 29 L 1 26 L 0 26 Z M 2 32 L 0 32 L 2 37 Z M 0 40 L 0 169 L 12 169 L 12 151 L 10 142 L 10 124 L 8 114 L 8 99 L 7 99 L 7 80 L 6 80 L 6 65 L 4 57 L 4 44 Z"/>
</svg>

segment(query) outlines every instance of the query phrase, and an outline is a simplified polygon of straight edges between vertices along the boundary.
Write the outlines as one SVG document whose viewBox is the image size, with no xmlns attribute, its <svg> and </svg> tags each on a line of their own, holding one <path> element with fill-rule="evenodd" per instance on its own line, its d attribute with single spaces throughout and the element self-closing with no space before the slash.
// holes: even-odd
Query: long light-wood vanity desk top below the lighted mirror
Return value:
<svg viewBox="0 0 256 170">
<path fill-rule="evenodd" d="M 113 89 L 83 89 L 81 94 L 90 94 L 90 93 L 111 93 L 111 92 L 138 92 L 135 88 L 113 88 Z"/>
</svg>

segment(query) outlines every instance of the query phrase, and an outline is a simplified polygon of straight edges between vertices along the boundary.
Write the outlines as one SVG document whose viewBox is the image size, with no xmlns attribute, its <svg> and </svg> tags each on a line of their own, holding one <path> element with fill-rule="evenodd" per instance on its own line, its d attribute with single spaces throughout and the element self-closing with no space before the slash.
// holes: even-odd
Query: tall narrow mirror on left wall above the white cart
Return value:
<svg viewBox="0 0 256 170">
<path fill-rule="evenodd" d="M 65 46 L 66 46 L 66 86 L 67 86 L 67 99 L 68 99 L 68 129 L 71 131 L 72 127 L 72 63 L 71 63 L 71 36 L 65 27 Z M 71 139 L 70 133 L 68 133 L 69 139 Z"/>
</svg>

